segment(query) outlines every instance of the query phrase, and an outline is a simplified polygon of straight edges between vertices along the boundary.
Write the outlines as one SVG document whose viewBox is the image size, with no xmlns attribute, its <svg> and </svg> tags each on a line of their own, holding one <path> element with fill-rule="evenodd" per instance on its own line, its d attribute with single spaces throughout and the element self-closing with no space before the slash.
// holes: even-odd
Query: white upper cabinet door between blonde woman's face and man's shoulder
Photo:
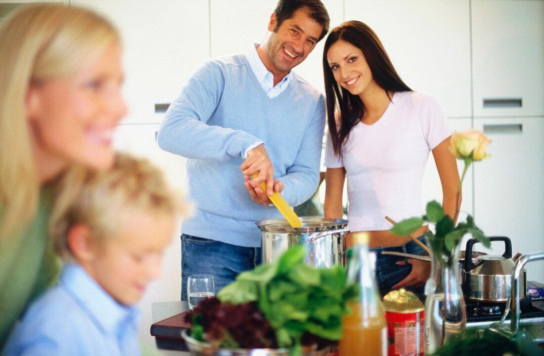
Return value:
<svg viewBox="0 0 544 356">
<path fill-rule="evenodd" d="M 106 15 L 120 29 L 125 52 L 124 123 L 160 122 L 169 104 L 209 56 L 208 2 L 192 0 L 71 0 Z"/>
</svg>

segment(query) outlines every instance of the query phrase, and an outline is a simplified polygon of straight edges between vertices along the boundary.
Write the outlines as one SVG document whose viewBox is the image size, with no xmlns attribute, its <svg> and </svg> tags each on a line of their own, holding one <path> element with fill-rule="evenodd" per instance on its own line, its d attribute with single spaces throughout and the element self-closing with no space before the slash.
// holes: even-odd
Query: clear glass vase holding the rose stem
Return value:
<svg viewBox="0 0 544 356">
<path fill-rule="evenodd" d="M 460 245 L 448 251 L 444 239 L 426 236 L 431 276 L 425 284 L 425 353 L 434 353 L 466 326 L 465 299 L 459 280 Z"/>
</svg>

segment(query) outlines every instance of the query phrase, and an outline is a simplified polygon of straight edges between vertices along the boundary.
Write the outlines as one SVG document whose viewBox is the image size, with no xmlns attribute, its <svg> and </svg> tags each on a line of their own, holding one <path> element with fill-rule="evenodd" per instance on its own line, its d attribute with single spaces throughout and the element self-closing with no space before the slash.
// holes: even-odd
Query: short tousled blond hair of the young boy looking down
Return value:
<svg viewBox="0 0 544 356">
<path fill-rule="evenodd" d="M 118 235 L 135 212 L 174 218 L 188 210 L 157 166 L 120 152 L 107 170 L 71 167 L 59 189 L 50 232 L 56 252 L 65 260 L 73 260 L 66 236 L 76 224 L 89 227 L 94 238 L 103 240 Z"/>
</svg>

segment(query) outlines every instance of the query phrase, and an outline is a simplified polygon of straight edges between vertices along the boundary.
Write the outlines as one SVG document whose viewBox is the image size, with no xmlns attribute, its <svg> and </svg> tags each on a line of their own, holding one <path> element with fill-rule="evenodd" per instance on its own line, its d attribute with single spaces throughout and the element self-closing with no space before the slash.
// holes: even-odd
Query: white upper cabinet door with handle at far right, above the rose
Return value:
<svg viewBox="0 0 544 356">
<path fill-rule="evenodd" d="M 544 115 L 544 1 L 473 0 L 474 116 Z"/>
</svg>

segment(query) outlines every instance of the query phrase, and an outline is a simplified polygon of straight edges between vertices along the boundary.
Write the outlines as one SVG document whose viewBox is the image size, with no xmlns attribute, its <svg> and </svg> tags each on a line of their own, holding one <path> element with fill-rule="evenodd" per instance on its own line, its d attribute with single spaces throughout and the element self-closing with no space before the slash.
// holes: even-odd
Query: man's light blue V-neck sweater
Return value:
<svg viewBox="0 0 544 356">
<path fill-rule="evenodd" d="M 184 85 L 160 126 L 158 143 L 187 157 L 189 198 L 196 205 L 182 233 L 232 245 L 259 247 L 255 222 L 282 218 L 252 201 L 240 170 L 243 155 L 264 142 L 274 178 L 293 206 L 319 182 L 325 126 L 321 93 L 293 73 L 288 88 L 269 98 L 245 55 L 207 60 Z"/>
</svg>

